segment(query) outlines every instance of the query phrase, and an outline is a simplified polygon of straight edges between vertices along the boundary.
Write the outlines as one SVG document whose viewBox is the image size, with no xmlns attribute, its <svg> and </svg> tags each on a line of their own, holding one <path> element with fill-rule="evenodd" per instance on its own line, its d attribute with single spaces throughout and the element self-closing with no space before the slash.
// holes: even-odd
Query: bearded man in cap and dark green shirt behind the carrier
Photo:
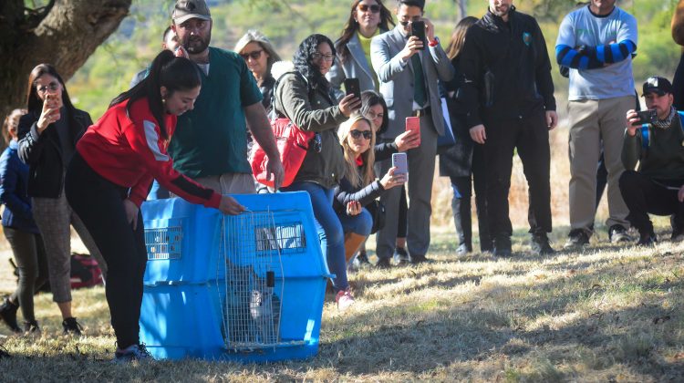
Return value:
<svg viewBox="0 0 684 383">
<path fill-rule="evenodd" d="M 169 145 L 174 168 L 214 191 L 254 193 L 247 160 L 247 127 L 268 156 L 276 189 L 283 180 L 275 137 L 254 76 L 235 52 L 209 47 L 212 16 L 204 0 L 178 0 L 171 28 L 181 48 L 202 72 L 202 91 L 194 109 L 178 119 Z M 246 126 L 245 126 L 246 121 Z"/>
</svg>

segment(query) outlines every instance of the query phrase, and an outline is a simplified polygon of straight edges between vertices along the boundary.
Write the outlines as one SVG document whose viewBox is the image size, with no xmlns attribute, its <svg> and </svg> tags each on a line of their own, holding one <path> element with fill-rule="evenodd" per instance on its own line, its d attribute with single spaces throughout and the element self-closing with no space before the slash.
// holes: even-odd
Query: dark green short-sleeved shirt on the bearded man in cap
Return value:
<svg viewBox="0 0 684 383">
<path fill-rule="evenodd" d="M 209 47 L 209 76 L 202 72 L 200 97 L 178 117 L 171 138 L 173 167 L 191 178 L 251 173 L 244 107 L 262 98 L 242 57 Z"/>
</svg>

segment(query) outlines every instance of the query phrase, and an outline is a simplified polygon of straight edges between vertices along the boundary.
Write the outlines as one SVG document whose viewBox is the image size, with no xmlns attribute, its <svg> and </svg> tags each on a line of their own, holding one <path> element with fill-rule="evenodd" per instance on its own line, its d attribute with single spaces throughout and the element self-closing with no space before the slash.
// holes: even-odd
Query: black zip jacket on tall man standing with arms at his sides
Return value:
<svg viewBox="0 0 684 383">
<path fill-rule="evenodd" d="M 468 28 L 461 52 L 468 128 L 482 119 L 521 119 L 555 110 L 551 61 L 534 17 L 511 7 L 508 22 L 490 11 Z M 485 79 L 486 78 L 486 79 Z"/>
</svg>

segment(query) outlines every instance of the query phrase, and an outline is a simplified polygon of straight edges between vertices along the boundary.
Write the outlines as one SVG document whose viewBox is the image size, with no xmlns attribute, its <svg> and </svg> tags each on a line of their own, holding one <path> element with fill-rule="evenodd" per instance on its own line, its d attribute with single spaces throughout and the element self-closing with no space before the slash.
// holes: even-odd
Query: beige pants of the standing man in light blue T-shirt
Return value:
<svg viewBox="0 0 684 383">
<path fill-rule="evenodd" d="M 622 140 L 625 115 L 634 109 L 634 96 L 586 99 L 568 102 L 570 119 L 570 227 L 591 234 L 596 215 L 596 169 L 603 142 L 608 171 L 608 227 L 629 227 L 629 210 L 617 185 L 625 171 L 622 165 Z"/>
</svg>

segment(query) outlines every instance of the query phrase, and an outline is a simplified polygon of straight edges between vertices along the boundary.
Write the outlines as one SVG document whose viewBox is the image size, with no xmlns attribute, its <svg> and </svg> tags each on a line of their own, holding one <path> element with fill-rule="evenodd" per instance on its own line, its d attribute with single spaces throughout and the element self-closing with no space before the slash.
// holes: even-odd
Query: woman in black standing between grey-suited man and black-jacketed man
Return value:
<svg viewBox="0 0 684 383">
<path fill-rule="evenodd" d="M 475 144 L 465 122 L 466 110 L 463 107 L 459 88 L 463 85 L 460 56 L 465 43 L 468 28 L 477 19 L 472 16 L 463 18 L 451 33 L 451 41 L 447 47 L 447 57 L 451 58 L 451 65 L 456 76 L 446 83 L 447 105 L 451 118 L 451 128 L 456 138 L 456 144 L 440 153 L 440 176 L 449 177 L 453 198 L 451 212 L 456 235 L 459 237 L 459 247 L 456 254 L 464 255 L 472 252 L 472 217 L 471 196 L 472 184 L 475 186 L 475 206 L 480 230 L 480 250 L 492 251 L 492 238 L 489 234 L 487 222 L 486 183 L 484 181 L 484 153 L 482 145 Z"/>
</svg>

